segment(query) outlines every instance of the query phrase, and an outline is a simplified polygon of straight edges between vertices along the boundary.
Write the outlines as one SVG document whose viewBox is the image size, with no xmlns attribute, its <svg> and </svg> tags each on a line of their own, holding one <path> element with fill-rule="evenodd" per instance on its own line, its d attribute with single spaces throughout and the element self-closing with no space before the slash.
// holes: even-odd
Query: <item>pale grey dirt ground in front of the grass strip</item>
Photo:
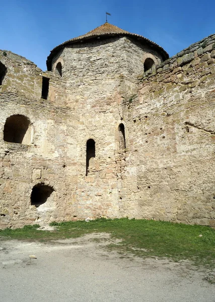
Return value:
<svg viewBox="0 0 215 302">
<path fill-rule="evenodd" d="M 215 302 L 207 271 L 110 252 L 110 242 L 108 234 L 47 244 L 0 241 L 0 300 Z"/>
</svg>

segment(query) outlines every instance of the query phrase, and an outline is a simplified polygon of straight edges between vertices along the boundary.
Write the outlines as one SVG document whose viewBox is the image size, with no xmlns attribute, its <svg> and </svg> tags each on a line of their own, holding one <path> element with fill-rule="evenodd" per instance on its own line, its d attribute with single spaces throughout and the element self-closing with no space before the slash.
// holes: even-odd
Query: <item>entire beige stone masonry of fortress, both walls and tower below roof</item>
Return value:
<svg viewBox="0 0 215 302">
<path fill-rule="evenodd" d="M 213 225 L 214 38 L 163 63 L 130 37 L 94 39 L 46 72 L 0 51 L 1 228 L 100 216 Z"/>
</svg>

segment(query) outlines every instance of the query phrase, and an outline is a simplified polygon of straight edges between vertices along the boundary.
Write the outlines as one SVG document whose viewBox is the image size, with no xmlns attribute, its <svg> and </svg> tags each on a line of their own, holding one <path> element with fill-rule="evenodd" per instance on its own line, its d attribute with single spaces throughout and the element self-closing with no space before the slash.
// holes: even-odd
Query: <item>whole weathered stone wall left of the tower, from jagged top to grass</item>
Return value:
<svg viewBox="0 0 215 302">
<path fill-rule="evenodd" d="M 0 60 L 7 67 L 0 86 L 1 228 L 46 222 L 55 217 L 63 219 L 68 208 L 63 198 L 66 188 L 62 177 L 64 110 L 56 107 L 55 98 L 41 99 L 42 77 L 49 77 L 50 85 L 56 82 L 56 77 L 42 72 L 23 57 L 8 51 L 0 53 Z M 16 133 L 6 135 L 5 126 L 10 121 L 8 132 L 13 132 L 22 120 L 28 121 L 28 137 L 22 143 L 14 143 Z M 38 208 L 31 205 L 32 189 L 37 184 L 53 188 L 49 200 Z"/>
</svg>

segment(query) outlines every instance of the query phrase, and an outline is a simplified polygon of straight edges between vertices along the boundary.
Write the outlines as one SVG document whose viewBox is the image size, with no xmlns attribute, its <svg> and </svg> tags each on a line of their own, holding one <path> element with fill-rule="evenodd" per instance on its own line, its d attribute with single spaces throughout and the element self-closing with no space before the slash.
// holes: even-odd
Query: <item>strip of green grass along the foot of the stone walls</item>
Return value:
<svg viewBox="0 0 215 302">
<path fill-rule="evenodd" d="M 109 249 L 140 257 L 190 260 L 196 265 L 213 266 L 215 259 L 215 230 L 208 226 L 187 225 L 145 219 L 96 219 L 86 221 L 52 222 L 55 231 L 36 230 L 28 225 L 22 229 L 0 230 L 0 238 L 50 242 L 62 238 L 77 238 L 90 233 L 109 233 L 118 244 Z M 198 237 L 202 235 L 202 237 Z M 107 247 L 106 247 L 107 248 Z"/>
</svg>

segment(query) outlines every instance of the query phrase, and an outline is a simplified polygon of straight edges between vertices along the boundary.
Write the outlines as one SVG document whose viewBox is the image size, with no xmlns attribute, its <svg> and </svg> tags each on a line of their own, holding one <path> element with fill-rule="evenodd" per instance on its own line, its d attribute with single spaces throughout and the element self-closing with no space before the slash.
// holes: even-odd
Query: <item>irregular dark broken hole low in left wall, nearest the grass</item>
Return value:
<svg viewBox="0 0 215 302">
<path fill-rule="evenodd" d="M 31 192 L 31 205 L 38 207 L 45 203 L 53 191 L 52 187 L 46 186 L 43 183 L 37 184 Z"/>
</svg>

